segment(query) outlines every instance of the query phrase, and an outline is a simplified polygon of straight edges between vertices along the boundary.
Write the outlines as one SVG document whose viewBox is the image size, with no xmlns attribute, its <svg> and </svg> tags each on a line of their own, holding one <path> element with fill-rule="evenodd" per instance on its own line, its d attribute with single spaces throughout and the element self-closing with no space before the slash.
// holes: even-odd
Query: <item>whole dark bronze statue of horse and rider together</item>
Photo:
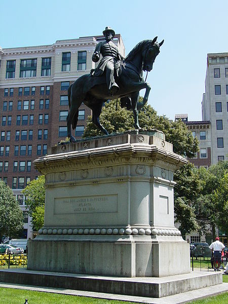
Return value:
<svg viewBox="0 0 228 304">
<path fill-rule="evenodd" d="M 149 84 L 143 80 L 143 71 L 151 71 L 164 40 L 160 43 L 157 42 L 157 37 L 143 40 L 124 59 L 112 42 L 115 31 L 106 26 L 103 35 L 105 41 L 97 44 L 92 56 L 92 60 L 98 62 L 100 54 L 102 55 L 98 66 L 68 88 L 69 114 L 66 122 L 67 136 L 71 142 L 75 142 L 71 135 L 71 125 L 73 129 L 77 126 L 82 102 L 92 109 L 92 121 L 104 134 L 108 135 L 108 132 L 101 125 L 99 117 L 103 103 L 110 99 L 120 98 L 122 107 L 132 109 L 135 129 L 140 129 L 138 111 L 147 102 L 150 91 Z M 146 89 L 145 95 L 143 101 L 138 102 L 139 91 L 142 89 Z"/>
</svg>

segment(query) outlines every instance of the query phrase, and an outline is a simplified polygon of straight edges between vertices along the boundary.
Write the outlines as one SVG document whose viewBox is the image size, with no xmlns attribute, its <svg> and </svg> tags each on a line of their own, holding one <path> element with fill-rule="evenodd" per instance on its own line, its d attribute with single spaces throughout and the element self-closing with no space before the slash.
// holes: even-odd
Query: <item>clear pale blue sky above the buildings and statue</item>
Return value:
<svg viewBox="0 0 228 304">
<path fill-rule="evenodd" d="M 164 39 L 147 82 L 149 103 L 170 119 L 201 120 L 207 53 L 228 52 L 225 0 L 2 0 L 0 8 L 2 48 L 99 35 L 107 25 L 121 33 L 126 54 L 144 39 Z"/>
</svg>

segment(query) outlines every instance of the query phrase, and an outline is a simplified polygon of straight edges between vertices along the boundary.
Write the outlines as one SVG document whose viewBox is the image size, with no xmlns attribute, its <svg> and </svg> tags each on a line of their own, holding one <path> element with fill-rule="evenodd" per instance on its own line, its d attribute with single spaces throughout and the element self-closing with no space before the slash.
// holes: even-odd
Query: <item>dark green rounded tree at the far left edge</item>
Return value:
<svg viewBox="0 0 228 304">
<path fill-rule="evenodd" d="M 0 240 L 3 236 L 16 238 L 22 234 L 23 212 L 12 189 L 0 180 Z"/>
</svg>

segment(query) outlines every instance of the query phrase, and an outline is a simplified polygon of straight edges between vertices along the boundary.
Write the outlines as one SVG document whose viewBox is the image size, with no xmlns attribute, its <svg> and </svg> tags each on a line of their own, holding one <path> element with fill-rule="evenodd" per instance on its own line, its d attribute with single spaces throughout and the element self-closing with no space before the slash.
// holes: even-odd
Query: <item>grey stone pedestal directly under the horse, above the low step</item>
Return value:
<svg viewBox="0 0 228 304">
<path fill-rule="evenodd" d="M 118 277 L 190 272 L 174 226 L 173 172 L 187 161 L 162 132 L 128 131 L 54 146 L 34 166 L 46 176 L 45 222 L 28 269 Z"/>
</svg>

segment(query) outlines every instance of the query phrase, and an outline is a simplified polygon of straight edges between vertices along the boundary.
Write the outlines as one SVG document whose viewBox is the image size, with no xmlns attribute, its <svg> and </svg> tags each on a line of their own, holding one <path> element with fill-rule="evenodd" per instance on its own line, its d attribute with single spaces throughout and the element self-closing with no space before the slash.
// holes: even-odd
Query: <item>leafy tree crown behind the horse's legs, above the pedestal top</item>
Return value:
<svg viewBox="0 0 228 304">
<path fill-rule="evenodd" d="M 140 97 L 142 99 L 142 97 Z M 134 129 L 134 116 L 132 110 L 121 108 L 116 101 L 106 102 L 100 115 L 101 124 L 109 132 L 124 132 Z M 181 121 L 170 122 L 166 116 L 159 116 L 153 107 L 146 104 L 139 111 L 139 124 L 143 129 L 157 129 L 165 133 L 166 140 L 173 144 L 173 151 L 177 154 L 193 157 L 198 151 L 198 139 L 193 137 Z M 104 135 L 93 124 L 89 117 L 83 137 Z"/>
</svg>

